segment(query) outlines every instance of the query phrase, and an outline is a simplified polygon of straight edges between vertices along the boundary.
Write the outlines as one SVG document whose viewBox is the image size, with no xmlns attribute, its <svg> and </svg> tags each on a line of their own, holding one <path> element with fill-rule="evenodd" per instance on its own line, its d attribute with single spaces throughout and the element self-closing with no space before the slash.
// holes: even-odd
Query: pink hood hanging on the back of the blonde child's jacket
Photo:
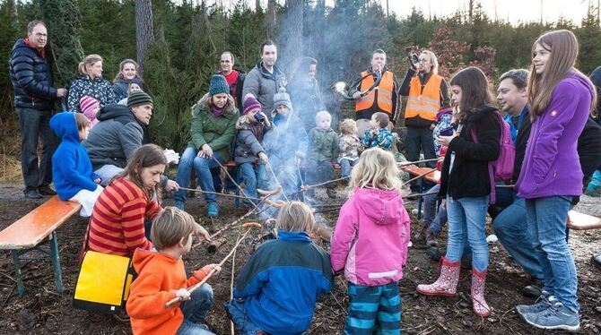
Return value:
<svg viewBox="0 0 601 335">
<path fill-rule="evenodd" d="M 355 188 L 357 207 L 378 225 L 390 225 L 403 219 L 403 200 L 398 191 Z"/>
</svg>

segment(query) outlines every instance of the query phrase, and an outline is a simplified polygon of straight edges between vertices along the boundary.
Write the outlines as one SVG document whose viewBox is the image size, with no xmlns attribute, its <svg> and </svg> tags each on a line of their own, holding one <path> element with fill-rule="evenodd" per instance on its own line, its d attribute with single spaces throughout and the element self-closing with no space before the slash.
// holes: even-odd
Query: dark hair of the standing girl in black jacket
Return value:
<svg viewBox="0 0 601 335">
<path fill-rule="evenodd" d="M 457 113 L 457 120 L 461 124 L 466 122 L 467 116 L 475 112 L 475 108 L 489 105 L 492 101 L 486 74 L 477 67 L 468 67 L 455 73 L 450 84 L 461 88 L 461 101 Z"/>
</svg>

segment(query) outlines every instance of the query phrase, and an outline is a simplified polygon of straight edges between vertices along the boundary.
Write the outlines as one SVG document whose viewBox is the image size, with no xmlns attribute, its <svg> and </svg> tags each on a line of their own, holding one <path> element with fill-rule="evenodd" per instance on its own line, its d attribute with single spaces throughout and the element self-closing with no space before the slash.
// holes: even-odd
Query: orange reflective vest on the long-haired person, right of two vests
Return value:
<svg viewBox="0 0 601 335">
<path fill-rule="evenodd" d="M 440 111 L 440 83 L 442 77 L 432 74 L 426 86 L 423 87 L 418 76 L 411 79 L 409 99 L 405 107 L 405 119 L 420 116 L 422 119 L 435 121 L 436 113 Z"/>
</svg>

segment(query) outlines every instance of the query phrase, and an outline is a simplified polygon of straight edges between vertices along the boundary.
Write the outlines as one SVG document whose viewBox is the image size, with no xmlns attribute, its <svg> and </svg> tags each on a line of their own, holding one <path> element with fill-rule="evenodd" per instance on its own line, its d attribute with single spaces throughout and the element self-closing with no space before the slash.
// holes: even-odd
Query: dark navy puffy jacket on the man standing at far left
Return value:
<svg viewBox="0 0 601 335">
<path fill-rule="evenodd" d="M 39 51 L 18 39 L 9 66 L 14 89 L 14 107 L 51 110 L 57 99 L 53 87 L 52 65 Z"/>
</svg>

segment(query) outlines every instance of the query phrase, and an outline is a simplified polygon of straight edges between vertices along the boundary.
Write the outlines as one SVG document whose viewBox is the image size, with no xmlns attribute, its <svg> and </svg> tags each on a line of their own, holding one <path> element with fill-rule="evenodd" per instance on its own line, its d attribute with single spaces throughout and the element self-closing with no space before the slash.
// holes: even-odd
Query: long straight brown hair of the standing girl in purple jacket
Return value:
<svg viewBox="0 0 601 335">
<path fill-rule="evenodd" d="M 549 60 L 544 64 L 544 72 L 536 73 L 534 64 L 536 46 L 539 45 L 551 53 Z M 588 77 L 580 73 L 574 64 L 578 58 L 578 39 L 570 30 L 553 30 L 544 33 L 536 39 L 532 45 L 532 65 L 530 66 L 530 78 L 528 80 L 528 109 L 530 120 L 534 121 L 536 116 L 543 114 L 544 109 L 551 102 L 553 89 L 568 73 L 578 73 L 585 79 L 593 90 L 591 111 L 597 106 L 597 90 Z"/>
</svg>

